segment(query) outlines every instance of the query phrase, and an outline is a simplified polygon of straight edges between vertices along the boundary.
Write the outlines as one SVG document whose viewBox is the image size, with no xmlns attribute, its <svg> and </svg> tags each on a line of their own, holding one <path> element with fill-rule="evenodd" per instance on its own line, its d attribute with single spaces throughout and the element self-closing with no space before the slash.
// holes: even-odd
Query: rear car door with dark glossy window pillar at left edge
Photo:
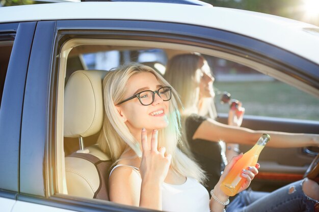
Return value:
<svg viewBox="0 0 319 212">
<path fill-rule="evenodd" d="M 4 211 L 12 211 L 19 194 L 22 105 L 35 25 L 35 22 L 0 24 L 0 205 Z"/>
</svg>

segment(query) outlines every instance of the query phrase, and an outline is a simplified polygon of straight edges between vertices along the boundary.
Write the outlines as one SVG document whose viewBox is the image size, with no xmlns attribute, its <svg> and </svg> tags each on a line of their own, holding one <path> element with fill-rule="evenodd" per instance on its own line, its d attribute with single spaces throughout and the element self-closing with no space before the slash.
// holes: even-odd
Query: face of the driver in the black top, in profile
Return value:
<svg viewBox="0 0 319 212">
<path fill-rule="evenodd" d="M 215 97 L 214 88 L 212 83 L 215 78 L 211 76 L 209 66 L 206 63 L 198 69 L 199 74 L 199 96 L 200 98 L 212 98 Z"/>
</svg>

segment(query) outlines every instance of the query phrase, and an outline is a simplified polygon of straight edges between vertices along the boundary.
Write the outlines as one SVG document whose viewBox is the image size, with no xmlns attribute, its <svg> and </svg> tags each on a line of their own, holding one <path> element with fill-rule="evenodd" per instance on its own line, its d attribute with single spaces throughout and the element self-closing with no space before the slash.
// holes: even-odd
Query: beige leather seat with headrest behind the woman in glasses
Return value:
<svg viewBox="0 0 319 212">
<path fill-rule="evenodd" d="M 83 139 L 102 127 L 102 79 L 106 73 L 76 71 L 65 86 L 64 137 L 79 139 L 79 150 L 65 158 L 69 195 L 109 200 L 108 171 L 112 162 L 97 144 L 87 148 L 83 145 Z"/>
</svg>

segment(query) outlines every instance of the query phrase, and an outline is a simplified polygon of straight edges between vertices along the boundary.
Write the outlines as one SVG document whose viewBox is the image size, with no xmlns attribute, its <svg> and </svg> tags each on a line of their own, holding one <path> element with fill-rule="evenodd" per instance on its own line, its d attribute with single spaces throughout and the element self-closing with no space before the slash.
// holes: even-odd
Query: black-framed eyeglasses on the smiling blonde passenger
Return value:
<svg viewBox="0 0 319 212">
<path fill-rule="evenodd" d="M 158 90 L 155 90 L 155 91 L 143 90 L 142 92 L 139 92 L 136 95 L 121 101 L 117 105 L 120 105 L 128 100 L 138 98 L 142 105 L 147 106 L 154 102 L 155 94 L 161 97 L 163 101 L 169 101 L 172 98 L 172 88 L 169 86 L 164 86 L 164 87 L 158 88 Z"/>
</svg>

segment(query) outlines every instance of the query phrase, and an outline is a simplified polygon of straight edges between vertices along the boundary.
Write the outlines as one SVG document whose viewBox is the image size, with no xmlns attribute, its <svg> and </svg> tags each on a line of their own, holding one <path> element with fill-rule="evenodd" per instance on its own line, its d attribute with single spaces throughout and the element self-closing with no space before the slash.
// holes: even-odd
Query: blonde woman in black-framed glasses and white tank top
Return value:
<svg viewBox="0 0 319 212">
<path fill-rule="evenodd" d="M 219 185 L 242 154 L 226 166 L 209 199 L 201 185 L 204 172 L 177 148 L 181 142 L 179 100 L 163 77 L 147 66 L 131 64 L 105 76 L 103 93 L 105 117 L 98 143 L 115 161 L 109 178 L 111 201 L 176 212 L 224 210 L 229 201 Z M 240 191 L 249 186 L 257 167 L 243 170 L 241 176 L 246 180 Z M 296 201 L 293 206 L 313 206 L 315 200 L 306 201 L 301 184 L 295 186 L 298 190 L 293 196 L 303 202 Z M 281 205 L 278 199 L 288 206 L 283 192 L 265 201 Z M 256 211 L 256 206 L 246 206 L 245 211 Z"/>
</svg>

